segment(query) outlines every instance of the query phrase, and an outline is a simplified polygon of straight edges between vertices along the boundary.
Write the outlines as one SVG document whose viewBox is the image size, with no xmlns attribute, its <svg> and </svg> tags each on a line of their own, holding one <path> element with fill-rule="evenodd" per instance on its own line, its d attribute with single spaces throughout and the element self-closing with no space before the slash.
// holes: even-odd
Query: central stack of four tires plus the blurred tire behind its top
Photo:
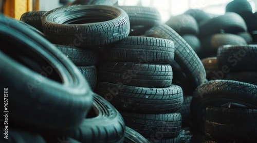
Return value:
<svg viewBox="0 0 257 143">
<path fill-rule="evenodd" d="M 160 25 L 159 12 L 150 7 L 118 6 L 130 18 L 132 35 Z M 150 18 L 151 17 L 151 18 Z M 126 126 L 150 142 L 179 142 L 183 102 L 181 87 L 172 84 L 174 42 L 128 36 L 99 47 L 99 83 L 95 90 L 124 118 Z"/>
</svg>

